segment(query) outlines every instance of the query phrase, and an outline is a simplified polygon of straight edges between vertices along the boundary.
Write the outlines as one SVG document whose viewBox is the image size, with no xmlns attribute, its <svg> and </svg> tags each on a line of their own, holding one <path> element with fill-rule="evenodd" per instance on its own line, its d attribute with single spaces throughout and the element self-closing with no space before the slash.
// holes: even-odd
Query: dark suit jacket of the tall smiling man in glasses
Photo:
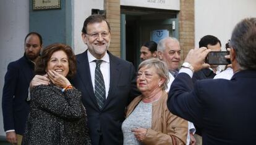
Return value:
<svg viewBox="0 0 256 145">
<path fill-rule="evenodd" d="M 110 83 L 109 92 L 100 110 L 93 91 L 87 51 L 77 55 L 77 74 L 74 86 L 82 92 L 83 105 L 87 109 L 89 135 L 92 144 L 98 144 L 100 135 L 104 144 L 122 144 L 121 130 L 124 109 L 129 101 L 139 95 L 135 83 L 135 70 L 132 63 L 121 60 L 109 53 Z"/>
</svg>

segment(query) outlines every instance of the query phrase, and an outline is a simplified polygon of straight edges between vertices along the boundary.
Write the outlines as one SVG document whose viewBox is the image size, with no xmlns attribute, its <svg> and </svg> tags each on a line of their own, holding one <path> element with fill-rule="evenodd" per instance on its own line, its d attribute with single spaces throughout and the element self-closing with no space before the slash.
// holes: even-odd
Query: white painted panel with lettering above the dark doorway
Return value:
<svg viewBox="0 0 256 145">
<path fill-rule="evenodd" d="M 179 0 L 120 0 L 121 6 L 179 10 Z"/>
</svg>

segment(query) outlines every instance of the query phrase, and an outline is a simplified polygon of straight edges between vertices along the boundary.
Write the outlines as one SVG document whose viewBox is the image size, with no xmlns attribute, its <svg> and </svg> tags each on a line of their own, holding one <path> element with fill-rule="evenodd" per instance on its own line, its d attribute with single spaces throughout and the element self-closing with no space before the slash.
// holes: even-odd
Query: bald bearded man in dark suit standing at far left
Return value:
<svg viewBox="0 0 256 145">
<path fill-rule="evenodd" d="M 6 139 L 12 144 L 21 141 L 29 112 L 28 86 L 35 76 L 34 61 L 38 58 L 42 47 L 40 34 L 27 34 L 24 42 L 25 53 L 22 58 L 9 63 L 4 88 L 2 90 L 2 115 Z"/>
</svg>

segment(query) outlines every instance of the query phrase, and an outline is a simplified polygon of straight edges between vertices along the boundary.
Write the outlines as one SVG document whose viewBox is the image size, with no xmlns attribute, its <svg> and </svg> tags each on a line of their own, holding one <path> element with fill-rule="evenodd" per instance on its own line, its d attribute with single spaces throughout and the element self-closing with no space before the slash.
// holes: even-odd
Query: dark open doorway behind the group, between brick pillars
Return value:
<svg viewBox="0 0 256 145">
<path fill-rule="evenodd" d="M 121 6 L 121 58 L 139 66 L 140 47 L 155 41 L 153 33 L 164 31 L 179 39 L 178 11 Z"/>
</svg>

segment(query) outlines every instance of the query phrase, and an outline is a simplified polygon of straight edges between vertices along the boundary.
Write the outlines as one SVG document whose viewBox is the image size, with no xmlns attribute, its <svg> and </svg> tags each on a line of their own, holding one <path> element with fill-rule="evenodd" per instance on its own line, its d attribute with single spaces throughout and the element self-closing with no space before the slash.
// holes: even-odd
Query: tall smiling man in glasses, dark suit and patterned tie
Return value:
<svg viewBox="0 0 256 145">
<path fill-rule="evenodd" d="M 91 15 L 85 20 L 82 39 L 88 50 L 77 55 L 77 74 L 72 84 L 82 92 L 92 144 L 123 144 L 124 111 L 129 101 L 139 95 L 134 66 L 108 51 L 111 32 L 103 16 Z M 36 76 L 32 84 L 39 84 L 38 79 L 43 77 Z"/>
</svg>

